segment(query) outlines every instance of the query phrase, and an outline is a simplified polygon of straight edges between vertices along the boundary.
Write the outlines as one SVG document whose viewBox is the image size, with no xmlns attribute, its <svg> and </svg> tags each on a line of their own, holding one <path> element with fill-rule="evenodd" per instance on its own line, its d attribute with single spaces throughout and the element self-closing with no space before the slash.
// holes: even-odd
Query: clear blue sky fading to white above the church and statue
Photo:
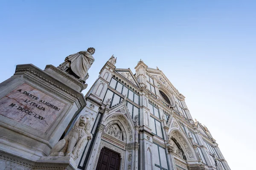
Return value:
<svg viewBox="0 0 256 170">
<path fill-rule="evenodd" d="M 112 54 L 134 73 L 140 59 L 157 66 L 230 168 L 255 167 L 255 0 L 0 1 L 0 82 L 18 64 L 58 66 L 88 47 L 89 87 Z"/>
</svg>

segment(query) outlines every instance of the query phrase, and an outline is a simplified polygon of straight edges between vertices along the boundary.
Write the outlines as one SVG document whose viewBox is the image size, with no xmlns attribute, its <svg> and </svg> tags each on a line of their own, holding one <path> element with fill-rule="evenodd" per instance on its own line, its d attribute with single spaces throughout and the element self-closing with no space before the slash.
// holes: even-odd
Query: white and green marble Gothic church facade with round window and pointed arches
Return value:
<svg viewBox="0 0 256 170">
<path fill-rule="evenodd" d="M 93 137 L 76 160 L 78 169 L 230 170 L 207 127 L 192 119 L 185 96 L 162 71 L 142 60 L 135 74 L 115 64 L 112 56 L 79 113 L 92 114 Z"/>
</svg>

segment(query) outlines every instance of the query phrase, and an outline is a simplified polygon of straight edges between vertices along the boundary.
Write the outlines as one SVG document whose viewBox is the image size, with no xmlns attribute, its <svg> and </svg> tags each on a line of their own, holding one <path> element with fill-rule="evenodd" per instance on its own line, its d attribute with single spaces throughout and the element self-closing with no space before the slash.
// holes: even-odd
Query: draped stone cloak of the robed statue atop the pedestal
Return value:
<svg viewBox="0 0 256 170">
<path fill-rule="evenodd" d="M 66 57 L 65 61 L 70 62 L 70 69 L 81 79 L 87 75 L 87 71 L 94 62 L 93 55 L 88 51 L 80 51 Z"/>
</svg>

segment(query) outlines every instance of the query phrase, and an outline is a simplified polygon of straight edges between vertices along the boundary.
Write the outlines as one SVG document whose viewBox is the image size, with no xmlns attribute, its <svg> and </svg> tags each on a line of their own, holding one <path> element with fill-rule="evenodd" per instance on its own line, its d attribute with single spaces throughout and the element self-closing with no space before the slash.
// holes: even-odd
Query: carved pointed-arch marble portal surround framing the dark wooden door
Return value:
<svg viewBox="0 0 256 170">
<path fill-rule="evenodd" d="M 121 137 L 119 139 L 118 135 L 117 137 L 115 136 L 117 133 L 112 135 L 111 133 L 108 134 L 109 130 L 111 129 L 111 125 L 115 126 L 116 128 L 118 127 L 118 130 L 122 131 L 122 139 Z M 138 133 L 136 133 L 135 135 L 134 129 L 134 120 L 131 118 L 131 115 L 129 114 L 125 100 L 113 106 L 112 108 L 110 108 L 110 110 L 106 109 L 103 113 L 99 125 L 99 131 L 95 136 L 95 142 L 91 153 L 96 151 L 97 154 L 95 157 L 90 158 L 90 161 L 88 163 L 90 165 L 90 169 L 95 170 L 102 147 L 107 147 L 111 150 L 116 151 L 116 153 L 120 153 L 120 170 L 126 170 L 126 165 L 128 162 L 131 163 L 132 167 L 135 167 L 133 161 L 131 162 L 128 159 L 126 159 L 129 156 L 129 154 L 127 153 L 130 153 L 131 156 L 134 155 L 134 150 L 131 147 L 127 147 L 134 146 L 134 143 L 138 140 Z"/>
</svg>

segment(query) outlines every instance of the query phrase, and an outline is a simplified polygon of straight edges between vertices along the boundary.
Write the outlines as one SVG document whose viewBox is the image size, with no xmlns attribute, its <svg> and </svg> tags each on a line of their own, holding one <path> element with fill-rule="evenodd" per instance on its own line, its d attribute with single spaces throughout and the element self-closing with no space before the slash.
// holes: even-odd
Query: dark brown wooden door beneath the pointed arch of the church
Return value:
<svg viewBox="0 0 256 170">
<path fill-rule="evenodd" d="M 108 148 L 103 147 L 96 170 L 119 170 L 120 169 L 120 154 Z"/>
</svg>

